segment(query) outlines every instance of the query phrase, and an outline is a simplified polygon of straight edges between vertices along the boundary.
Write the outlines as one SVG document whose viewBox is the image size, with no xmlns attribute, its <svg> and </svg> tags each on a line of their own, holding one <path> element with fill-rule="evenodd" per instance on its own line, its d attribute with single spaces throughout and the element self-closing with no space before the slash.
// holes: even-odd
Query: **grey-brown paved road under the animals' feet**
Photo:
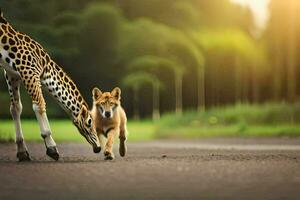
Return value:
<svg viewBox="0 0 300 200">
<path fill-rule="evenodd" d="M 18 163 L 0 144 L 0 199 L 300 199 L 300 139 L 203 139 L 129 143 L 128 156 L 104 161 L 87 144 L 42 143 Z"/>
</svg>

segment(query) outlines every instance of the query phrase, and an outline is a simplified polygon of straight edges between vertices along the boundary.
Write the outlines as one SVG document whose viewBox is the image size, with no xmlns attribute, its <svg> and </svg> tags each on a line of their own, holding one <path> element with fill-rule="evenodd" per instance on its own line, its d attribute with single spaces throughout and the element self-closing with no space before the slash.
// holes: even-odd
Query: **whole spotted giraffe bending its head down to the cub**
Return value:
<svg viewBox="0 0 300 200">
<path fill-rule="evenodd" d="M 21 83 L 32 99 L 32 108 L 49 157 L 58 160 L 59 152 L 51 136 L 42 87 L 69 114 L 80 134 L 92 145 L 93 151 L 100 152 L 101 147 L 89 107 L 75 83 L 38 42 L 16 31 L 3 17 L 1 9 L 0 67 L 4 68 L 11 99 L 10 112 L 15 125 L 19 161 L 31 160 L 21 127 L 22 103 L 19 92 Z"/>
</svg>

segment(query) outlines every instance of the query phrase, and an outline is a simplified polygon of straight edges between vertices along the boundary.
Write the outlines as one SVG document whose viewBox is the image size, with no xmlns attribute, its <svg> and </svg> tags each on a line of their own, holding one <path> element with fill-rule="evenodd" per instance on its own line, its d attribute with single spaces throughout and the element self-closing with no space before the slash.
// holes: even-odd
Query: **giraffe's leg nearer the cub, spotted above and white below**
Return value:
<svg viewBox="0 0 300 200">
<path fill-rule="evenodd" d="M 41 136 L 44 139 L 47 155 L 54 160 L 59 159 L 56 143 L 51 136 L 51 129 L 46 113 L 46 103 L 42 94 L 41 83 L 38 76 L 31 77 L 30 81 L 25 80 L 25 87 L 32 98 L 32 108 L 38 120 Z"/>
</svg>

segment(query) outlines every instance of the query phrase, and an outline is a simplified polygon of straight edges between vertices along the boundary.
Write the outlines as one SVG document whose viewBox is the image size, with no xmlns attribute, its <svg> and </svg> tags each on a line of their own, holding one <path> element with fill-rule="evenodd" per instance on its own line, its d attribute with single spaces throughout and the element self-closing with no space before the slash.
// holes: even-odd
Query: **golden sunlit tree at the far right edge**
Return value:
<svg viewBox="0 0 300 200">
<path fill-rule="evenodd" d="M 290 102 L 296 100 L 299 71 L 300 2 L 297 0 L 272 0 L 269 6 L 270 20 L 264 34 L 268 53 L 274 58 L 273 99 Z"/>
</svg>

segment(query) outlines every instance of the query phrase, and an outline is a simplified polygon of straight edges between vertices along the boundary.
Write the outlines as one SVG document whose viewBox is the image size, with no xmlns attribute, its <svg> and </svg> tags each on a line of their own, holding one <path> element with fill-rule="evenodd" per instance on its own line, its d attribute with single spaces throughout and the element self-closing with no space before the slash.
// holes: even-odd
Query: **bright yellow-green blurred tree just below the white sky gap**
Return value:
<svg viewBox="0 0 300 200">
<path fill-rule="evenodd" d="M 229 93 L 234 102 L 248 102 L 251 98 L 258 101 L 260 81 L 268 66 L 262 45 L 238 29 L 203 30 L 193 32 L 191 37 L 206 54 L 209 90 L 215 105 L 228 95 L 222 88 L 234 91 Z"/>
</svg>

